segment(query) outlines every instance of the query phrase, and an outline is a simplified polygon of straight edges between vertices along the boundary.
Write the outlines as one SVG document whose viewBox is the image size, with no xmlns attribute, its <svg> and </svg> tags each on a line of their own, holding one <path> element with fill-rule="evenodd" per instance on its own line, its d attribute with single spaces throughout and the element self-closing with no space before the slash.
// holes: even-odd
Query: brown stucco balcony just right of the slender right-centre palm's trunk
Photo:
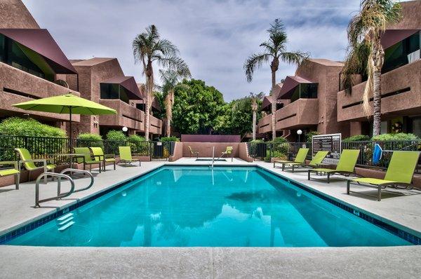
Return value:
<svg viewBox="0 0 421 279">
<path fill-rule="evenodd" d="M 298 99 L 276 111 L 276 130 L 293 129 L 317 125 L 319 100 Z"/>
</svg>

